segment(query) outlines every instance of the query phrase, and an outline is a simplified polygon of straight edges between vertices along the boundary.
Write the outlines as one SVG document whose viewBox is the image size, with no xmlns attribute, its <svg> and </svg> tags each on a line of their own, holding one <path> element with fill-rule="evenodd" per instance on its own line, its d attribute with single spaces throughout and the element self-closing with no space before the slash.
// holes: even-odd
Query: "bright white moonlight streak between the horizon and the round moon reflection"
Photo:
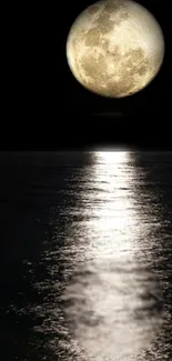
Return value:
<svg viewBox="0 0 172 361">
<path fill-rule="evenodd" d="M 92 188 L 95 184 L 95 190 L 90 193 L 85 188 L 81 195 L 84 234 L 90 240 L 88 252 L 94 251 L 94 258 L 112 254 L 128 258 L 132 257 L 131 250 L 138 249 L 141 215 L 133 207 L 136 198 L 133 167 L 125 169 L 130 158 L 128 151 L 94 153 L 90 183 Z"/>
</svg>

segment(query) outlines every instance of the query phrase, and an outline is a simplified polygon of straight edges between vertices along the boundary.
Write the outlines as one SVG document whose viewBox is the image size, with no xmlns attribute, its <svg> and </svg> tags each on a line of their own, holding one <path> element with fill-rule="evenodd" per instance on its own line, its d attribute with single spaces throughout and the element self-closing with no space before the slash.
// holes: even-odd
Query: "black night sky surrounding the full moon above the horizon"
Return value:
<svg viewBox="0 0 172 361">
<path fill-rule="evenodd" d="M 85 90 L 72 76 L 65 42 L 77 16 L 93 1 L 24 9 L 10 34 L 11 131 L 1 148 L 59 149 L 97 144 L 171 147 L 172 22 L 170 1 L 140 0 L 158 19 L 165 39 L 164 63 L 144 90 L 107 99 Z M 27 13 L 28 11 L 28 13 Z M 11 48 L 10 48 L 11 47 Z M 12 136 L 12 137 L 11 137 Z M 4 146 L 4 147 L 3 147 Z"/>
</svg>

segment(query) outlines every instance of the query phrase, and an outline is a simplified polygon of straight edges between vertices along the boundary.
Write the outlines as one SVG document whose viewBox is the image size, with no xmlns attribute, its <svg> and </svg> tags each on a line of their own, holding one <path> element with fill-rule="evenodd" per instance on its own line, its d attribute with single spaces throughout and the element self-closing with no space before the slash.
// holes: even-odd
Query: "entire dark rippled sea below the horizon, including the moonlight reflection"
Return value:
<svg viewBox="0 0 172 361">
<path fill-rule="evenodd" d="M 172 153 L 0 154 L 0 352 L 172 360 Z"/>
</svg>

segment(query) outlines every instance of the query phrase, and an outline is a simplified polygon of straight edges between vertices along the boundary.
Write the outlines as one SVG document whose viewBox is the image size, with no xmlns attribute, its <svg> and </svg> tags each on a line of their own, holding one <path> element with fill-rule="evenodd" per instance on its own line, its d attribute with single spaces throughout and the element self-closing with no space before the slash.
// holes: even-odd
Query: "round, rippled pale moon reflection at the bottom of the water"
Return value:
<svg viewBox="0 0 172 361">
<path fill-rule="evenodd" d="M 70 331 L 89 360 L 132 357 L 150 345 L 163 320 L 154 277 L 141 264 L 115 258 L 80 269 L 63 302 Z"/>
</svg>

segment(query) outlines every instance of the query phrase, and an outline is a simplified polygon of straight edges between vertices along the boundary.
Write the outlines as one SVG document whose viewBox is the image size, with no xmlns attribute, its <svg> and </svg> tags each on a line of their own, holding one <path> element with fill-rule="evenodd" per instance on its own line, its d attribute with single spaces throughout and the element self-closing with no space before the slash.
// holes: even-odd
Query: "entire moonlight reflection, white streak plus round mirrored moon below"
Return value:
<svg viewBox="0 0 172 361">
<path fill-rule="evenodd" d="M 129 152 L 95 152 L 88 181 L 95 190 L 85 189 L 81 199 L 85 259 L 92 261 L 73 274 L 63 300 L 70 332 L 88 361 L 138 361 L 163 319 L 160 288 L 139 260 L 140 238 L 150 225 L 142 227 L 134 207 L 139 194 L 130 162 Z"/>
</svg>

